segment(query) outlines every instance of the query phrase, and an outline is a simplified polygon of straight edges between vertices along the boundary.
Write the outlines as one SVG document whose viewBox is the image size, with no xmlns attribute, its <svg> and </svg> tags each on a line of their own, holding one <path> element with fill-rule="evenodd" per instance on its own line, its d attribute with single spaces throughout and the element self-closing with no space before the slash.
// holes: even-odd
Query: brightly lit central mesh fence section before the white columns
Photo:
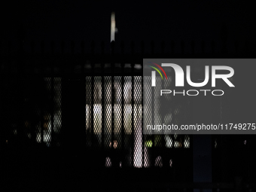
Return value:
<svg viewBox="0 0 256 192">
<path fill-rule="evenodd" d="M 162 104 L 160 99 L 156 97 L 160 87 L 154 89 L 154 94 L 152 94 L 153 89 L 151 89 L 151 85 L 148 85 L 149 93 L 144 96 L 145 105 L 143 105 L 142 76 L 88 76 L 85 81 L 85 142 L 88 148 L 114 150 L 115 157 L 123 156 L 123 162 L 121 160 L 118 162 L 120 167 L 133 166 L 136 168 L 164 166 L 163 161 L 166 157 L 160 155 L 154 157 L 152 154 L 154 148 L 169 150 L 172 148 L 190 148 L 190 136 L 143 135 L 142 129 L 143 111 L 146 114 L 145 121 L 147 123 L 161 123 L 162 121 L 166 124 L 179 123 L 179 120 L 183 121 L 185 118 L 182 111 L 186 109 L 187 103 L 182 103 L 172 98 L 171 95 L 167 95 L 166 99 L 174 104 L 170 108 L 169 114 L 166 114 L 162 119 L 158 112 L 158 108 Z M 151 83 L 151 78 L 145 77 L 144 81 Z M 169 86 L 160 78 L 157 78 L 157 83 L 162 83 L 163 87 Z M 112 152 L 106 153 L 105 166 L 114 166 Z M 172 159 L 169 158 L 168 162 L 172 162 Z"/>
</svg>

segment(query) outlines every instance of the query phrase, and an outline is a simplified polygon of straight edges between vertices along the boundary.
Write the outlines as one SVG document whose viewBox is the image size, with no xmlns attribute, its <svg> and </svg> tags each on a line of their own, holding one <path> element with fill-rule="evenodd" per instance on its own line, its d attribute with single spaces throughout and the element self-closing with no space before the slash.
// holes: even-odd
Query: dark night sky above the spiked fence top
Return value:
<svg viewBox="0 0 256 192">
<path fill-rule="evenodd" d="M 162 40 L 180 42 L 181 39 L 185 44 L 192 40 L 220 41 L 223 23 L 227 25 L 230 46 L 235 39 L 255 40 L 254 6 L 242 1 L 137 1 L 134 4 L 130 1 L 34 0 L 8 2 L 2 6 L 4 41 L 17 41 L 22 23 L 25 46 L 32 39 L 35 43 L 54 40 L 56 44 L 62 40 L 67 44 L 70 41 L 80 44 L 81 40 L 108 42 L 111 11 L 116 13 L 117 43 L 144 40 L 148 47 L 151 40 L 158 44 Z M 75 51 L 79 51 L 79 47 L 76 48 Z"/>
</svg>

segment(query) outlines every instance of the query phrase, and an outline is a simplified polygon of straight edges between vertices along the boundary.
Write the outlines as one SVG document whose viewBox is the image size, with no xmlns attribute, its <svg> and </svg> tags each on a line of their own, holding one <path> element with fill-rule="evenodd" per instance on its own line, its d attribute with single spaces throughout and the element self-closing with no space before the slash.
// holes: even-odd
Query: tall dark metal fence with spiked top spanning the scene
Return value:
<svg viewBox="0 0 256 192">
<path fill-rule="evenodd" d="M 142 134 L 145 110 L 142 58 L 253 57 L 255 50 L 253 44 L 250 49 L 248 46 L 246 50 L 239 50 L 237 43 L 233 51 L 225 44 L 215 50 L 212 42 L 210 53 L 205 53 L 204 42 L 199 45 L 201 53 L 194 53 L 193 42 L 190 51 L 184 53 L 184 42 L 181 42 L 181 50 L 175 53 L 174 42 L 170 43 L 170 50 L 166 50 L 162 42 L 160 52 L 155 53 L 152 42 L 151 53 L 144 53 L 142 42 L 141 52 L 136 53 L 132 43 L 130 53 L 124 53 L 123 43 L 118 47 L 120 51 L 116 51 L 117 45 L 112 42 L 110 53 L 105 53 L 104 44 L 99 49 L 101 53 L 95 53 L 92 43 L 91 53 L 84 53 L 82 43 L 81 53 L 74 53 L 74 44 L 71 53 L 64 53 L 64 44 L 61 44 L 62 53 L 55 53 L 55 45 L 51 43 L 51 53 L 45 53 L 42 42 L 39 54 L 34 52 L 33 44 L 31 53 L 26 53 L 21 46 L 17 52 L 2 54 L 1 148 L 16 148 L 20 143 L 43 151 L 60 148 L 69 151 L 67 158 L 80 158 L 80 163 L 72 160 L 79 165 L 76 170 L 81 167 L 152 168 L 155 169 L 152 176 L 162 175 L 156 181 L 192 182 L 192 136 Z M 182 116 L 174 120 L 182 120 Z M 213 138 L 215 146 L 218 136 Z M 38 158 L 58 164 L 57 160 Z M 146 174 L 144 171 L 141 176 Z M 134 180 L 139 175 L 135 175 Z M 146 177 L 140 179 L 148 181 Z"/>
</svg>

